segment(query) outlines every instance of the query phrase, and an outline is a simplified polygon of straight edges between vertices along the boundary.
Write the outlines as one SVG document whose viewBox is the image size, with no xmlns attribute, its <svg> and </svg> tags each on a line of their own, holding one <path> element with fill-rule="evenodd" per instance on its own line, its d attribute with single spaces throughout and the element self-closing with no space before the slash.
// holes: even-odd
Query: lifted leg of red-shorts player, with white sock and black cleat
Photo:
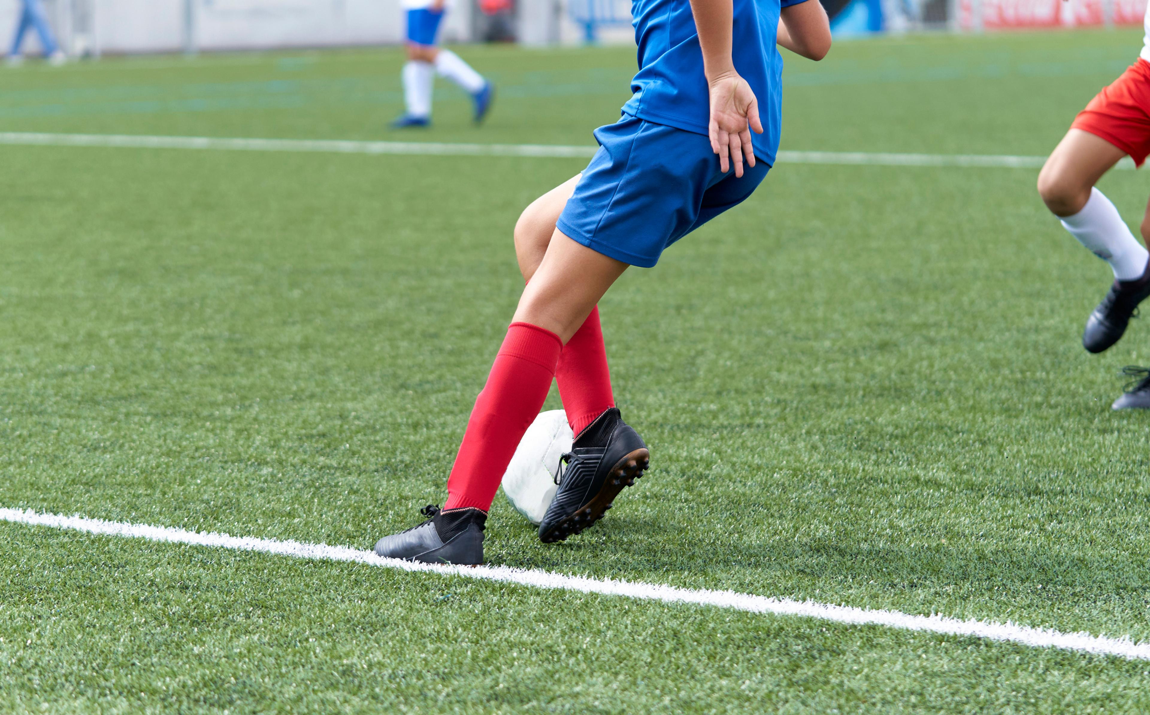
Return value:
<svg viewBox="0 0 1150 715">
<path fill-rule="evenodd" d="M 1071 129 L 1038 174 L 1038 193 L 1082 245 L 1102 258 L 1114 283 L 1090 313 L 1082 345 L 1102 352 L 1121 339 L 1138 303 L 1150 297 L 1150 253 L 1095 184 L 1126 152 L 1081 129 Z M 1150 208 L 1148 208 L 1150 211 Z M 1150 221 L 1143 219 L 1143 236 Z"/>
</svg>

